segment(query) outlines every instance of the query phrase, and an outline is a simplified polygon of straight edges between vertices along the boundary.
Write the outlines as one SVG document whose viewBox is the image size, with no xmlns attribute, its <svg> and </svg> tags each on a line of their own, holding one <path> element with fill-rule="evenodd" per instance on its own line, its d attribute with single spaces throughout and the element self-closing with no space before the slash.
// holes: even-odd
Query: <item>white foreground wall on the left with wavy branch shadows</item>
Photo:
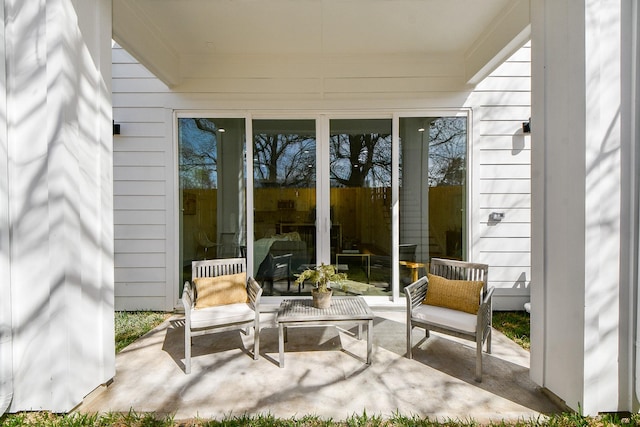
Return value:
<svg viewBox="0 0 640 427">
<path fill-rule="evenodd" d="M 9 410 L 65 412 L 115 374 L 111 2 L 6 0 L 4 11 Z"/>
</svg>

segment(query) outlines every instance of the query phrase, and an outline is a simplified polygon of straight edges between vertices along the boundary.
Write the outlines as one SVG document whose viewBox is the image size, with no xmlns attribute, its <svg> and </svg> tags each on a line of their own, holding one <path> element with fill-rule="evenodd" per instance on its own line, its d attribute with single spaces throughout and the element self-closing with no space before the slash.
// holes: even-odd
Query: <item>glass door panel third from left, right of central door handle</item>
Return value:
<svg viewBox="0 0 640 427">
<path fill-rule="evenodd" d="M 391 294 L 390 119 L 330 121 L 331 257 L 347 294 Z"/>
</svg>

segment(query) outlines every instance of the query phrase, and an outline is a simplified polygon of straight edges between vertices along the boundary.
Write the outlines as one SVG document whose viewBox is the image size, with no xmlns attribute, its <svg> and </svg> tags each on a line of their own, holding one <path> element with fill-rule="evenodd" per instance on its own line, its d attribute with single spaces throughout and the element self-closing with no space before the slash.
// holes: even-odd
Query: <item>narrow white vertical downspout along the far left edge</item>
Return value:
<svg viewBox="0 0 640 427">
<path fill-rule="evenodd" d="M 0 0 L 0 90 L 7 92 L 5 1 Z M 11 321 L 11 241 L 9 233 L 9 139 L 7 97 L 0 104 L 0 416 L 13 400 L 13 325 Z"/>
</svg>

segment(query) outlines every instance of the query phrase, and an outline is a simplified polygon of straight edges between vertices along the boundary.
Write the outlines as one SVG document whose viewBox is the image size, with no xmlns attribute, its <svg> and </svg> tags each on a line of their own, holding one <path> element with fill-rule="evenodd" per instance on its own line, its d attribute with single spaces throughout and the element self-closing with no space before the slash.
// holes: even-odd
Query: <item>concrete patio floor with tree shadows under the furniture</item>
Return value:
<svg viewBox="0 0 640 427">
<path fill-rule="evenodd" d="M 352 415 L 516 420 L 562 410 L 529 379 L 529 353 L 499 332 L 484 355 L 482 383 L 474 381 L 475 344 L 414 330 L 414 360 L 406 352 L 405 313 L 376 309 L 373 363 L 356 328 L 289 331 L 285 367 L 278 366 L 277 329 L 222 332 L 193 339 L 191 374 L 184 373 L 183 318 L 168 321 L 121 351 L 113 382 L 88 396 L 78 412 L 153 411 L 176 420 L 244 414 L 291 418 Z M 273 325 L 273 314 L 261 315 Z M 263 323 L 261 322 L 261 323 Z M 421 341 L 422 340 L 422 341 Z"/>
</svg>

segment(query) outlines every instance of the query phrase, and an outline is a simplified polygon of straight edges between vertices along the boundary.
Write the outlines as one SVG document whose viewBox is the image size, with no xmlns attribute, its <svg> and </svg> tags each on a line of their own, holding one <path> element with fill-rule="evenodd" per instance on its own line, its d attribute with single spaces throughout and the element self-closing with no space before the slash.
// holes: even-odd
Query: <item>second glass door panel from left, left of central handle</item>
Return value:
<svg viewBox="0 0 640 427">
<path fill-rule="evenodd" d="M 267 277 L 273 257 L 291 254 L 285 261 L 292 275 L 316 259 L 315 123 L 253 121 L 253 274 L 265 295 L 298 292 L 295 277 L 276 283 Z"/>
</svg>

